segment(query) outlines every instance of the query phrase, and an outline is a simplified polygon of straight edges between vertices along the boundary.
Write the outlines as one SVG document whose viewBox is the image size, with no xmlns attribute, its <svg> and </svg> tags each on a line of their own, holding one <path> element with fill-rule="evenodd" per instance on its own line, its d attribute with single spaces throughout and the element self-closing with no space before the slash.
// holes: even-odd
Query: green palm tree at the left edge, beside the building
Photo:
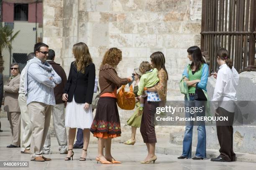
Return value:
<svg viewBox="0 0 256 170">
<path fill-rule="evenodd" d="M 9 51 L 12 49 L 12 41 L 17 37 L 19 32 L 20 31 L 17 31 L 13 35 L 13 29 L 11 29 L 9 26 L 3 27 L 2 24 L 0 25 L 0 73 L 3 73 L 3 70 L 5 69 L 3 66 L 3 49 L 8 48 Z"/>
</svg>

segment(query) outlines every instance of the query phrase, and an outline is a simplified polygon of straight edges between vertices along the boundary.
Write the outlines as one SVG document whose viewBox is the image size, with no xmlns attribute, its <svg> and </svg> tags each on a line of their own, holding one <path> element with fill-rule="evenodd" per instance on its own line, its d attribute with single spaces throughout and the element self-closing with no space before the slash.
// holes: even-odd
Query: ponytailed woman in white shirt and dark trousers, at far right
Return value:
<svg viewBox="0 0 256 170">
<path fill-rule="evenodd" d="M 216 101 L 214 104 L 215 116 L 228 117 L 228 121 L 216 121 L 220 155 L 212 158 L 211 161 L 230 162 L 236 160 L 236 154 L 233 152 L 233 120 L 239 75 L 232 66 L 233 62 L 225 48 L 218 50 L 217 62 L 220 65 L 220 70 L 218 74 L 213 74 L 217 80 L 212 101 Z"/>
</svg>

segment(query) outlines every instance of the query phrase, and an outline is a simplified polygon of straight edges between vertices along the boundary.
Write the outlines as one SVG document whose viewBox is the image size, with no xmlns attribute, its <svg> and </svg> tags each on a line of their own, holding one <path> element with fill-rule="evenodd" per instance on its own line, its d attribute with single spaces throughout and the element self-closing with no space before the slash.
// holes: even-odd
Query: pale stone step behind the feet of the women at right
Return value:
<svg viewBox="0 0 256 170">
<path fill-rule="evenodd" d="M 196 147 L 192 147 L 192 157 L 195 156 Z M 157 144 L 156 145 L 156 153 L 166 154 L 166 155 L 177 155 L 180 156 L 182 154 L 182 146 L 174 145 L 174 144 Z M 218 150 L 207 149 L 206 150 L 207 158 L 214 158 L 220 155 Z M 241 162 L 254 162 L 256 163 L 256 155 L 254 154 L 244 154 L 236 152 L 236 161 Z"/>
</svg>

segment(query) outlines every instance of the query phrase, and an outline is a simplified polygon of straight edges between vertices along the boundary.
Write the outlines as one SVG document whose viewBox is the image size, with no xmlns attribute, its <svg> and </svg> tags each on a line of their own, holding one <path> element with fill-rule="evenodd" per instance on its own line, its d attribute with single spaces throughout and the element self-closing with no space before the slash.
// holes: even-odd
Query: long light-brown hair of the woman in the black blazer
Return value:
<svg viewBox="0 0 256 170">
<path fill-rule="evenodd" d="M 85 67 L 92 63 L 92 57 L 89 52 L 89 48 L 85 43 L 76 43 L 72 49 L 74 56 L 76 58 L 75 66 L 77 71 L 82 74 L 85 73 Z"/>
</svg>

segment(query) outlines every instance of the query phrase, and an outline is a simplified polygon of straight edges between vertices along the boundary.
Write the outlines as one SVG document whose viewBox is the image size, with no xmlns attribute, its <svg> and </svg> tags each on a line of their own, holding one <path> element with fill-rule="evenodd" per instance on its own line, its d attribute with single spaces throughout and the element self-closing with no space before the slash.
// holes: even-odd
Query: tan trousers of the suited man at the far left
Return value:
<svg viewBox="0 0 256 170">
<path fill-rule="evenodd" d="M 12 145 L 20 146 L 20 112 L 7 113 L 12 132 Z"/>
</svg>

